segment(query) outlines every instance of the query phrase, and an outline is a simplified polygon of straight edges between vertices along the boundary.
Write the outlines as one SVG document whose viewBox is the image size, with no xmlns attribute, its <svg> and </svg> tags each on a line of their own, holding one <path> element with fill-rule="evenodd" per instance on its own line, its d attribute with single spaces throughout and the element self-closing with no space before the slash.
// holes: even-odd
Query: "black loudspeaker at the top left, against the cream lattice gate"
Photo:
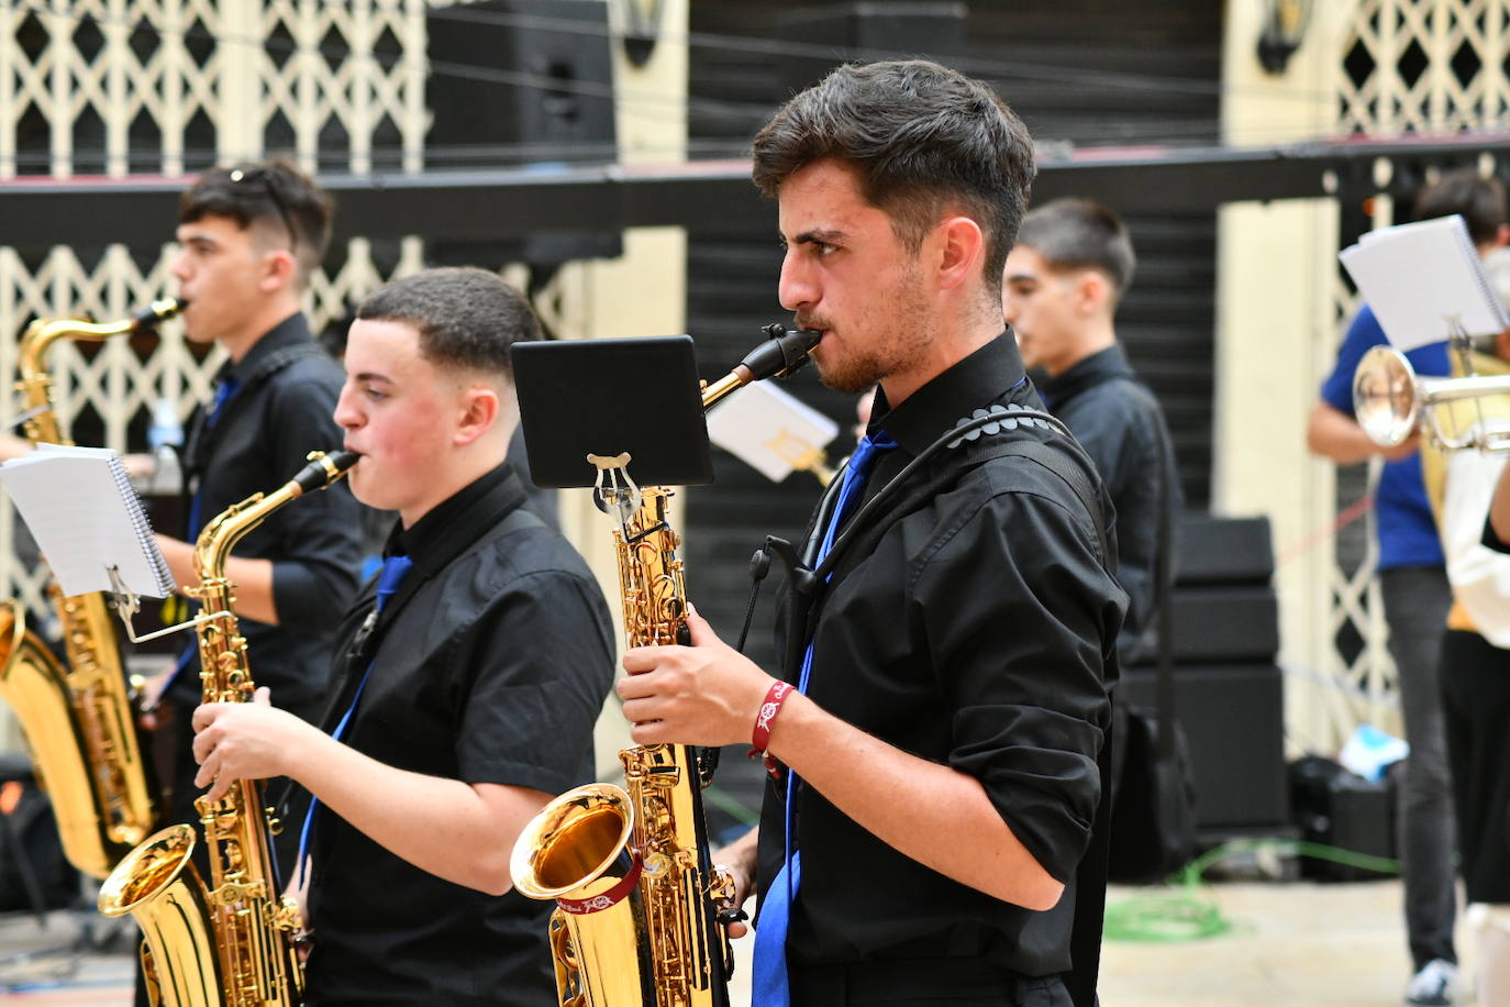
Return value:
<svg viewBox="0 0 1510 1007">
<path fill-rule="evenodd" d="M 483 0 L 426 15 L 432 125 L 426 169 L 618 160 L 606 0 Z M 436 264 L 615 258 L 618 231 L 429 249 Z"/>
</svg>

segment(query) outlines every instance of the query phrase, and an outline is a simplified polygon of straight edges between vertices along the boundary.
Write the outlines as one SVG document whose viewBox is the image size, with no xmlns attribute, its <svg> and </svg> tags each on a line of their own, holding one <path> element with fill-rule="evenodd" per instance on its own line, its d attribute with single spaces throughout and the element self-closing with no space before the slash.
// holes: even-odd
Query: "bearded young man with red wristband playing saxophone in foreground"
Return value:
<svg viewBox="0 0 1510 1007">
<path fill-rule="evenodd" d="M 1031 139 L 978 82 L 874 63 L 793 98 L 753 163 L 820 376 L 880 385 L 837 518 L 814 527 L 862 537 L 791 608 L 784 681 L 693 616 L 695 646 L 625 655 L 624 714 L 642 744 L 753 741 L 787 767 L 758 839 L 725 851 L 740 897 L 761 889 L 757 1007 L 1089 1005 L 1105 864 L 1087 848 L 1126 605 L 1095 516 L 1110 501 L 1048 421 L 948 436 L 1042 408 L 1001 319 Z M 1037 459 L 977 453 L 1009 442 Z"/>
</svg>

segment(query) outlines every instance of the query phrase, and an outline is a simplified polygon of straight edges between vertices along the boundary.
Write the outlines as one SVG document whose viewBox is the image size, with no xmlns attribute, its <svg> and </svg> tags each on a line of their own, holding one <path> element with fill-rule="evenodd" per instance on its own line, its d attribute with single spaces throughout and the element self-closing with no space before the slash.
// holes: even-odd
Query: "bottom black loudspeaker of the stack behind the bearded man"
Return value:
<svg viewBox="0 0 1510 1007">
<path fill-rule="evenodd" d="M 1175 669 L 1175 687 L 1176 717 L 1190 744 L 1196 824 L 1210 830 L 1288 821 L 1279 667 L 1181 666 Z M 1157 705 L 1151 669 L 1125 670 L 1122 688 L 1140 707 Z"/>
</svg>

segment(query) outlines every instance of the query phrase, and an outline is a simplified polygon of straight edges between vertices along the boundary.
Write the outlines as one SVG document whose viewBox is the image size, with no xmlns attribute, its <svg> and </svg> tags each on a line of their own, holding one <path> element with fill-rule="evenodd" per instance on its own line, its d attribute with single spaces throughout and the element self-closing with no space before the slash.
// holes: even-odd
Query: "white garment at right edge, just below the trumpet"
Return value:
<svg viewBox="0 0 1510 1007">
<path fill-rule="evenodd" d="M 1501 453 L 1448 453 L 1442 553 L 1453 596 L 1468 610 L 1478 633 L 1495 646 L 1510 648 L 1510 556 L 1483 544 L 1489 501 L 1504 465 Z"/>
</svg>

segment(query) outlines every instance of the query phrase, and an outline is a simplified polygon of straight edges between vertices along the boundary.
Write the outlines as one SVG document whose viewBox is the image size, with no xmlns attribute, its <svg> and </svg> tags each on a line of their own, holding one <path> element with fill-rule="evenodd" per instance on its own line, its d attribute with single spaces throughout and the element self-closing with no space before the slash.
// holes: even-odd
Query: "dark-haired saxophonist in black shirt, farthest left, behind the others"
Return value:
<svg viewBox="0 0 1510 1007">
<path fill-rule="evenodd" d="M 331 237 L 331 202 L 313 180 L 287 162 L 208 171 L 180 199 L 177 237 L 172 275 L 189 302 L 184 335 L 226 353 L 213 399 L 189 420 L 183 537 L 157 536 L 183 589 L 198 583 L 193 540 L 208 521 L 281 486 L 310 451 L 340 445 L 331 411 L 341 368 L 314 341 L 300 309 Z M 335 627 L 356 593 L 359 515 L 344 485 L 311 494 L 248 534 L 226 563 L 252 676 L 272 690 L 279 708 L 305 720 L 325 705 Z M 157 705 L 166 716 L 151 720 L 166 722 L 174 758 L 163 773 L 172 788 L 166 821 L 192 823 L 199 767 L 190 717 L 201 702 L 192 633 L 159 688 Z M 281 793 L 273 787 L 269 797 Z M 304 806 L 304 796 L 294 794 L 284 812 L 297 820 Z M 293 832 L 284 829 L 273 841 L 285 876 L 296 850 Z"/>
</svg>

